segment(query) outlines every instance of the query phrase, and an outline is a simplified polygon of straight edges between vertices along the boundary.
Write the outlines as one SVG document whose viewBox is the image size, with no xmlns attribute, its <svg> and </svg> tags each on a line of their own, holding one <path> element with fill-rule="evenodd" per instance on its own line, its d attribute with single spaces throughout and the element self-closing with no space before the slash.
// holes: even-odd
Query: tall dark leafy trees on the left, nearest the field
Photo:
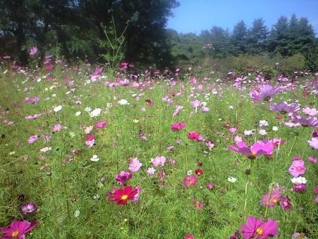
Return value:
<svg viewBox="0 0 318 239">
<path fill-rule="evenodd" d="M 37 46 L 67 60 L 170 64 L 165 25 L 176 0 L 0 0 L 0 54 L 28 64 Z"/>
</svg>

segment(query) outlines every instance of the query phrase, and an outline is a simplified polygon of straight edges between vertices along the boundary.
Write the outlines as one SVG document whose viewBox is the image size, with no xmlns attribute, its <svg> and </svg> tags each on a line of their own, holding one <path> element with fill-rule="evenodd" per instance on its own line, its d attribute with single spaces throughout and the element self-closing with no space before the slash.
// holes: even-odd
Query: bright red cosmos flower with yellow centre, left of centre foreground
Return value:
<svg viewBox="0 0 318 239">
<path fill-rule="evenodd" d="M 110 201 L 117 205 L 126 205 L 128 201 L 133 201 L 133 198 L 138 193 L 137 188 L 126 186 L 125 188 L 114 188 L 113 191 L 106 193 Z"/>
</svg>

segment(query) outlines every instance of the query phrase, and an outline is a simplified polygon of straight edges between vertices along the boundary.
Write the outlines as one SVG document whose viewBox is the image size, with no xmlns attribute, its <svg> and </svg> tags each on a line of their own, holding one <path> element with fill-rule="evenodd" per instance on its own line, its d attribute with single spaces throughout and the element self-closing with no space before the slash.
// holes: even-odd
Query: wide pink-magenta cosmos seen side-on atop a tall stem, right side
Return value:
<svg viewBox="0 0 318 239">
<path fill-rule="evenodd" d="M 237 147 L 233 145 L 229 146 L 229 149 L 233 150 L 234 152 L 244 154 L 248 156 L 248 159 L 256 159 L 258 156 L 262 155 L 271 155 L 273 154 L 274 145 L 272 141 L 267 143 L 257 142 L 253 144 L 251 147 L 248 147 L 245 142 L 237 142 Z"/>
</svg>

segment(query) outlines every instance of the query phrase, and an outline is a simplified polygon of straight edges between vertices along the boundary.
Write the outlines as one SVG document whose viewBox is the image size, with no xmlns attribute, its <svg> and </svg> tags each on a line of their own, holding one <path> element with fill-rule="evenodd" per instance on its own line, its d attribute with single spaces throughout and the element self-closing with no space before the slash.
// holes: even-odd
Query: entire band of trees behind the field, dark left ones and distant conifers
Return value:
<svg viewBox="0 0 318 239">
<path fill-rule="evenodd" d="M 301 54 L 318 70 L 318 41 L 307 18 L 282 16 L 268 29 L 262 18 L 250 27 L 239 21 L 231 31 L 179 34 L 165 28 L 177 0 L 0 0 L 0 55 L 21 65 L 53 54 L 65 60 L 170 67 L 193 58 L 229 58 L 242 54 Z M 113 60 L 113 62 L 112 62 Z"/>
</svg>

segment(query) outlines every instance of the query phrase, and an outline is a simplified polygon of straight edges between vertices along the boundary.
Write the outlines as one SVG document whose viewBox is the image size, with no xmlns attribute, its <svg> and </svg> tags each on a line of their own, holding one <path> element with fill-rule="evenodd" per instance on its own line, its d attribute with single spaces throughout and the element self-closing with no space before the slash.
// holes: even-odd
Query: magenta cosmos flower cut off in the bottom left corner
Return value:
<svg viewBox="0 0 318 239">
<path fill-rule="evenodd" d="M 9 228 L 1 228 L 3 239 L 25 239 L 26 233 L 31 232 L 38 222 L 13 221 Z"/>
</svg>

